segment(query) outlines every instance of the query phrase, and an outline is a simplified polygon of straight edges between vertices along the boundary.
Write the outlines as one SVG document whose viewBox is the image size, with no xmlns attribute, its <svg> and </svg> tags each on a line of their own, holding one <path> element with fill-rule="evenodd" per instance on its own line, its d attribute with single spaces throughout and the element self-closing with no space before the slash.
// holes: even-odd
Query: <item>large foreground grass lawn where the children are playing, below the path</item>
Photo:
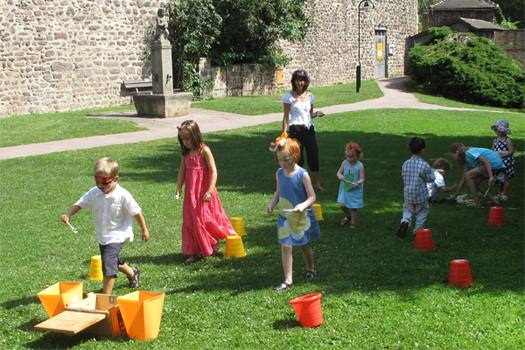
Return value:
<svg viewBox="0 0 525 350">
<path fill-rule="evenodd" d="M 497 119 L 506 118 L 516 147 L 516 177 L 502 203 L 504 226 L 486 224 L 489 205 L 430 208 L 426 227 L 435 251 L 414 250 L 413 237 L 396 231 L 403 205 L 401 165 L 407 142 L 427 141 L 426 160 L 448 156 L 456 141 L 490 148 Z M 280 122 L 204 135 L 218 167 L 218 190 L 230 217 L 242 217 L 244 258 L 182 263 L 182 200 L 174 200 L 180 154 L 175 139 L 53 153 L 0 161 L 0 344 L 6 349 L 520 349 L 525 347 L 523 115 L 513 113 L 368 110 L 329 115 L 316 123 L 321 154 L 322 236 L 312 242 L 317 277 L 294 250 L 295 286 L 282 282 L 276 217 L 265 215 L 278 165 L 268 151 Z M 365 158 L 365 207 L 356 230 L 341 227 L 335 174 L 344 145 L 358 142 Z M 39 333 L 47 314 L 37 293 L 57 282 L 81 281 L 84 292 L 102 290 L 86 279 L 98 246 L 90 212 L 72 218 L 73 234 L 60 215 L 94 186 L 93 163 L 102 156 L 120 163 L 119 183 L 143 209 L 151 234 L 136 238 L 121 257 L 140 266 L 140 290 L 166 293 L 158 339 L 139 342 L 79 334 Z M 451 160 L 452 162 L 452 160 Z M 457 185 L 456 164 L 446 178 Z M 466 190 L 465 190 L 466 191 Z M 492 188 L 493 193 L 496 192 Z M 221 251 L 224 252 L 224 244 Z M 474 285 L 449 286 L 450 261 L 470 262 Z M 132 290 L 119 276 L 117 295 Z M 303 328 L 289 301 L 321 292 L 324 323 Z"/>
</svg>

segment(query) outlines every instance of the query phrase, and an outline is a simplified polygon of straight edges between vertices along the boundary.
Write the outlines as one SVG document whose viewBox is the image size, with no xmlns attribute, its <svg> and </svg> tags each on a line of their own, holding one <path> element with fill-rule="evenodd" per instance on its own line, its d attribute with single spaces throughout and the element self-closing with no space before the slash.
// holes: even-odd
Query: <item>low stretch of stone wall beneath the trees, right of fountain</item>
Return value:
<svg viewBox="0 0 525 350">
<path fill-rule="evenodd" d="M 213 97 L 267 95 L 277 92 L 274 69 L 260 65 L 234 64 L 228 67 L 212 66 L 206 58 L 199 62 L 203 80 L 211 79 L 213 87 L 202 91 Z"/>
</svg>

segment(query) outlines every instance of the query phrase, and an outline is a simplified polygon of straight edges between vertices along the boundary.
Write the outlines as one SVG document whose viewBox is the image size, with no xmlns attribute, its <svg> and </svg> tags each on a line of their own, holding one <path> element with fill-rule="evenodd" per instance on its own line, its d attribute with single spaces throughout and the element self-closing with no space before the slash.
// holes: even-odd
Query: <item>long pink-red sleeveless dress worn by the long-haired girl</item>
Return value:
<svg viewBox="0 0 525 350">
<path fill-rule="evenodd" d="M 182 210 L 182 253 L 194 255 L 213 253 L 212 245 L 228 236 L 237 236 L 230 219 L 224 212 L 217 188 L 210 202 L 204 202 L 209 188 L 210 171 L 200 153 L 186 155 L 184 206 Z"/>
</svg>

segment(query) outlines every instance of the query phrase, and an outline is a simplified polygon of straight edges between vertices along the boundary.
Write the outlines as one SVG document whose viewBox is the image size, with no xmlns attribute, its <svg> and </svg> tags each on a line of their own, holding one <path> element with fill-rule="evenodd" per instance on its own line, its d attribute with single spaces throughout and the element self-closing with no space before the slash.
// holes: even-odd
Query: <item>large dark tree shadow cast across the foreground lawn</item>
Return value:
<svg viewBox="0 0 525 350">
<path fill-rule="evenodd" d="M 217 163 L 219 193 L 226 188 L 225 191 L 234 194 L 231 199 L 233 201 L 236 200 L 235 193 L 241 196 L 264 193 L 271 198 L 275 191 L 278 164 L 268 147 L 275 139 L 275 132 L 256 130 L 243 135 L 237 131 L 235 137 L 231 137 L 230 133 L 211 134 L 206 142 Z M 426 223 L 437 247 L 431 252 L 413 250 L 414 238 L 411 235 L 406 239 L 396 236 L 403 205 L 401 165 L 410 158 L 407 143 L 412 136 L 344 131 L 317 133 L 322 184 L 329 192 L 318 193 L 317 201 L 322 205 L 325 221 L 321 222 L 322 237 L 312 242 L 319 272 L 316 279 L 324 285 L 324 289 L 334 292 L 349 289 L 373 291 L 392 287 L 402 292 L 443 283 L 448 279 L 450 261 L 461 258 L 469 260 L 474 281 L 483 285 L 484 292 L 500 293 L 504 289 L 522 291 L 523 281 L 516 281 L 515 276 L 523 276 L 523 254 L 518 249 L 523 247 L 523 223 L 517 220 L 518 214 L 511 210 L 505 212 L 509 218 L 508 224 L 505 228 L 499 228 L 486 225 L 488 206 L 475 209 L 462 205 L 433 205 Z M 446 178 L 449 186 L 457 185 L 462 175 L 457 164 L 448 157 L 450 145 L 458 141 L 465 145 L 489 145 L 492 140 L 489 137 L 443 137 L 433 134 L 420 136 L 427 142 L 425 160 L 428 163 L 432 164 L 439 157 L 449 159 L 452 167 Z M 128 161 L 132 164 L 128 168 L 142 168 L 145 171 L 128 171 L 128 176 L 134 181 L 175 181 L 180 154 L 178 145 L 173 146 L 173 140 L 169 141 L 171 143 L 165 146 L 158 157 L 130 158 Z M 362 160 L 366 169 L 365 207 L 358 210 L 356 230 L 340 227 L 343 214 L 336 203 L 339 181 L 335 173 L 344 160 L 344 145 L 350 140 L 358 140 L 365 154 Z M 515 146 L 516 149 L 522 149 L 523 141 L 516 140 Z M 170 176 L 166 176 L 166 173 Z M 520 181 L 523 174 L 518 172 L 516 177 L 511 190 L 516 193 L 515 197 L 523 198 L 523 195 L 520 196 L 523 194 L 523 181 Z M 468 188 L 465 187 L 464 192 L 468 192 Z M 505 208 L 509 204 L 510 202 L 503 203 L 502 206 Z M 228 207 L 229 203 L 223 200 L 223 205 Z M 523 201 L 516 200 L 512 205 L 523 208 Z M 261 212 L 260 215 L 264 214 Z M 276 218 L 270 221 L 271 224 L 255 230 L 252 227 L 254 234 L 249 234 L 243 240 L 247 247 L 266 247 L 275 257 L 269 259 L 268 254 L 249 253 L 243 259 L 246 261 L 244 265 L 253 265 L 251 268 L 254 270 L 255 267 L 271 269 L 275 272 L 275 277 L 271 279 L 279 281 L 282 268 L 280 247 L 274 236 Z M 268 232 L 272 234 L 269 235 Z M 168 264 L 169 260 L 166 258 Z M 220 263 L 214 262 L 217 269 L 228 268 L 232 264 L 236 263 L 228 259 Z M 294 276 L 303 273 L 304 262 L 300 255 L 295 256 L 294 269 Z M 210 287 L 208 278 L 198 274 L 191 276 L 191 279 L 191 290 L 230 289 L 232 286 L 229 281 L 214 283 Z M 273 284 L 250 280 L 248 284 L 244 283 L 243 289 L 264 289 Z M 173 292 L 185 290 L 186 288 Z"/>
</svg>

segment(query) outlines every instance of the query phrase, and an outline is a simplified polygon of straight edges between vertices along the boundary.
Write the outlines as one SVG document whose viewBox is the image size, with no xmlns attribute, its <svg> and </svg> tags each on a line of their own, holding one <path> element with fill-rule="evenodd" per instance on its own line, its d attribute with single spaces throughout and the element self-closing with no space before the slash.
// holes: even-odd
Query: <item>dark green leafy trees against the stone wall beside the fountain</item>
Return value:
<svg viewBox="0 0 525 350">
<path fill-rule="evenodd" d="M 180 0 L 169 3 L 174 84 L 198 95 L 199 58 L 285 66 L 289 59 L 277 40 L 303 39 L 311 24 L 303 9 L 309 0 Z"/>
</svg>

